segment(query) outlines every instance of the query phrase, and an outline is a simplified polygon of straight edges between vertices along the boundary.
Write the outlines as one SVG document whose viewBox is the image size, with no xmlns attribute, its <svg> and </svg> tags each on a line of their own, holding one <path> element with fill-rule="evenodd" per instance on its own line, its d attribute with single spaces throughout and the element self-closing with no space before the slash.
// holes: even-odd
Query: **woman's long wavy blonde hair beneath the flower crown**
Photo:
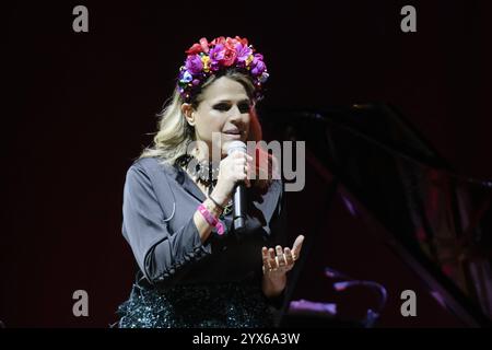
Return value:
<svg viewBox="0 0 492 350">
<path fill-rule="evenodd" d="M 234 69 L 223 71 L 220 74 L 212 74 L 202 85 L 199 92 L 197 92 L 190 100 L 191 106 L 196 109 L 201 102 L 202 93 L 207 86 L 212 84 L 216 79 L 221 77 L 227 77 L 234 81 L 241 83 L 248 97 L 254 101 L 255 86 L 248 75 L 238 72 Z M 145 148 L 140 154 L 141 158 L 156 158 L 161 163 L 166 163 L 168 165 L 174 165 L 176 160 L 181 155 L 187 153 L 188 144 L 195 141 L 195 128 L 190 126 L 181 112 L 181 105 L 184 101 L 179 95 L 179 91 L 176 89 L 173 96 L 166 102 L 163 110 L 157 115 L 159 120 L 159 131 L 154 136 L 153 144 Z M 262 131 L 261 125 L 258 120 L 258 115 L 256 114 L 255 106 L 250 108 L 250 121 L 249 121 L 249 133 L 248 141 L 261 141 Z M 255 186 L 259 188 L 267 188 L 271 183 L 271 168 L 272 168 L 272 156 L 268 154 L 265 150 L 257 145 L 256 158 L 261 159 L 265 156 L 268 159 L 268 168 L 261 167 L 260 162 L 257 161 L 256 178 L 251 182 Z M 268 174 L 268 175 L 266 175 Z"/>
</svg>

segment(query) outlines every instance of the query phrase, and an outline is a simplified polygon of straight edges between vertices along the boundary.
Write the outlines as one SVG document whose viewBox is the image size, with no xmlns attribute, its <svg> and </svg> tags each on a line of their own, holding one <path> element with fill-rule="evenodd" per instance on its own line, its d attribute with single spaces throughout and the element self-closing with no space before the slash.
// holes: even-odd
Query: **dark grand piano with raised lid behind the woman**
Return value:
<svg viewBox="0 0 492 350">
<path fill-rule="evenodd" d="M 491 325 L 492 182 L 456 174 L 389 105 L 260 116 L 267 140 L 306 142 L 305 188 L 286 195 L 290 240 L 306 241 L 281 326 Z"/>
</svg>

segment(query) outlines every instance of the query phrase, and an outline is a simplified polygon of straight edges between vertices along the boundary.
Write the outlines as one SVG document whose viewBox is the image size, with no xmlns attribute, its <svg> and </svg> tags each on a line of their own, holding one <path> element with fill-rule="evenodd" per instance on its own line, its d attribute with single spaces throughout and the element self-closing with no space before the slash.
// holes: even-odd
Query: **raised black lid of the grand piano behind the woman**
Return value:
<svg viewBox="0 0 492 350">
<path fill-rule="evenodd" d="M 490 322 L 492 182 L 455 174 L 388 105 L 259 115 L 267 139 L 306 141 L 311 171 L 332 175 L 385 228 L 383 240 L 443 306 L 466 325 Z"/>
</svg>

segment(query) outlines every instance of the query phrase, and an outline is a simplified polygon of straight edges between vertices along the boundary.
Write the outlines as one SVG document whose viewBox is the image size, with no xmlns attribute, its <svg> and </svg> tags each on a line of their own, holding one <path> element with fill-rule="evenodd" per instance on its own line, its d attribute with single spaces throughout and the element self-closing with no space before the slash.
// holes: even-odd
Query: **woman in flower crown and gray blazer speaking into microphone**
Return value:
<svg viewBox="0 0 492 350">
<path fill-rule="evenodd" d="M 255 105 L 268 78 L 263 57 L 237 36 L 202 38 L 186 54 L 154 142 L 127 173 L 122 234 L 138 272 L 118 325 L 273 326 L 304 237 L 283 246 L 276 160 L 260 147 L 231 151 L 233 141 L 261 140 Z M 247 198 L 241 232 L 238 184 Z"/>
</svg>

